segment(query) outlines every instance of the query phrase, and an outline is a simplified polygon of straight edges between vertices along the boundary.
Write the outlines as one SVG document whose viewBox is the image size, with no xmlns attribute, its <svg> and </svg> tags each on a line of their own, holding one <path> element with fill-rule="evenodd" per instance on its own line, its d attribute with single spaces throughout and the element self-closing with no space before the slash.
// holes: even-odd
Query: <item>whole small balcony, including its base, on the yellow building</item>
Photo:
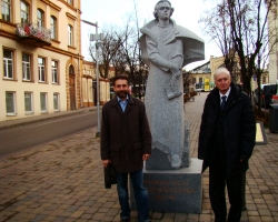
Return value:
<svg viewBox="0 0 278 222">
<path fill-rule="evenodd" d="M 18 23 L 17 34 L 19 37 L 19 41 L 23 43 L 37 47 L 51 44 L 51 30 L 38 26 L 37 23 Z"/>
</svg>

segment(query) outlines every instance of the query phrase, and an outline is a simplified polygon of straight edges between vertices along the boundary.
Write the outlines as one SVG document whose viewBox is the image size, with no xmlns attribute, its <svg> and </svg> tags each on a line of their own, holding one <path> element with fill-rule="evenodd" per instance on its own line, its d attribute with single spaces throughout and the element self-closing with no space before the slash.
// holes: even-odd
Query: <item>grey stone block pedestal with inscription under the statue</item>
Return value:
<svg viewBox="0 0 278 222">
<path fill-rule="evenodd" d="M 149 210 L 156 212 L 201 213 L 201 160 L 191 159 L 189 168 L 145 170 L 143 183 L 149 193 Z M 130 201 L 131 209 L 136 210 L 133 192 L 131 192 Z"/>
</svg>

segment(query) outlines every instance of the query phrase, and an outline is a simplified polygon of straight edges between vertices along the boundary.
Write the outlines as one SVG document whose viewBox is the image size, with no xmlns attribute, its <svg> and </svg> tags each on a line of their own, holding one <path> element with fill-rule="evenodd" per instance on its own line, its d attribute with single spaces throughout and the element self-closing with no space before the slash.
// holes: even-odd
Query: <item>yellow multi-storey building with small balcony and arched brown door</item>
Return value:
<svg viewBox="0 0 278 222">
<path fill-rule="evenodd" d="M 0 121 L 80 108 L 80 0 L 0 2 Z"/>
</svg>

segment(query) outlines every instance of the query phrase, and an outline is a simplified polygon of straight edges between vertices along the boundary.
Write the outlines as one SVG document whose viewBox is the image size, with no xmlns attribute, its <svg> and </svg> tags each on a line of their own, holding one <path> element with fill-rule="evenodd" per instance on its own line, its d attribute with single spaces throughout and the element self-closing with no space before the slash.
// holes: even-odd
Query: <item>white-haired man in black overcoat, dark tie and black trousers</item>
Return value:
<svg viewBox="0 0 278 222">
<path fill-rule="evenodd" d="M 231 82 L 230 73 L 219 68 L 216 87 L 208 95 L 199 133 L 198 158 L 202 172 L 209 167 L 209 198 L 216 222 L 225 222 L 227 185 L 229 222 L 241 218 L 241 175 L 248 169 L 256 140 L 256 120 L 248 95 Z"/>
</svg>

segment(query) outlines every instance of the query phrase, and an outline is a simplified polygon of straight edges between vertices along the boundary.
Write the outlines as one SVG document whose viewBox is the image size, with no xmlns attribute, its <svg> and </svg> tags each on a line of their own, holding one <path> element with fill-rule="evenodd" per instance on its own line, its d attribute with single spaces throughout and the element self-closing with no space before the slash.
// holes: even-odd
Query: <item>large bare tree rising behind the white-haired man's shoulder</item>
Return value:
<svg viewBox="0 0 278 222">
<path fill-rule="evenodd" d="M 201 20 L 208 27 L 207 33 L 218 42 L 222 52 L 227 53 L 226 49 L 237 52 L 244 90 L 249 95 L 255 67 L 261 69 L 258 58 L 264 49 L 268 49 L 267 39 L 272 39 L 272 44 L 277 43 L 277 38 L 268 32 L 268 17 L 276 9 L 276 3 L 277 0 L 221 0 L 216 9 L 206 12 L 207 19 Z M 216 22 L 210 24 L 214 16 L 218 20 L 214 18 Z M 269 54 L 269 49 L 265 54 Z"/>
</svg>

